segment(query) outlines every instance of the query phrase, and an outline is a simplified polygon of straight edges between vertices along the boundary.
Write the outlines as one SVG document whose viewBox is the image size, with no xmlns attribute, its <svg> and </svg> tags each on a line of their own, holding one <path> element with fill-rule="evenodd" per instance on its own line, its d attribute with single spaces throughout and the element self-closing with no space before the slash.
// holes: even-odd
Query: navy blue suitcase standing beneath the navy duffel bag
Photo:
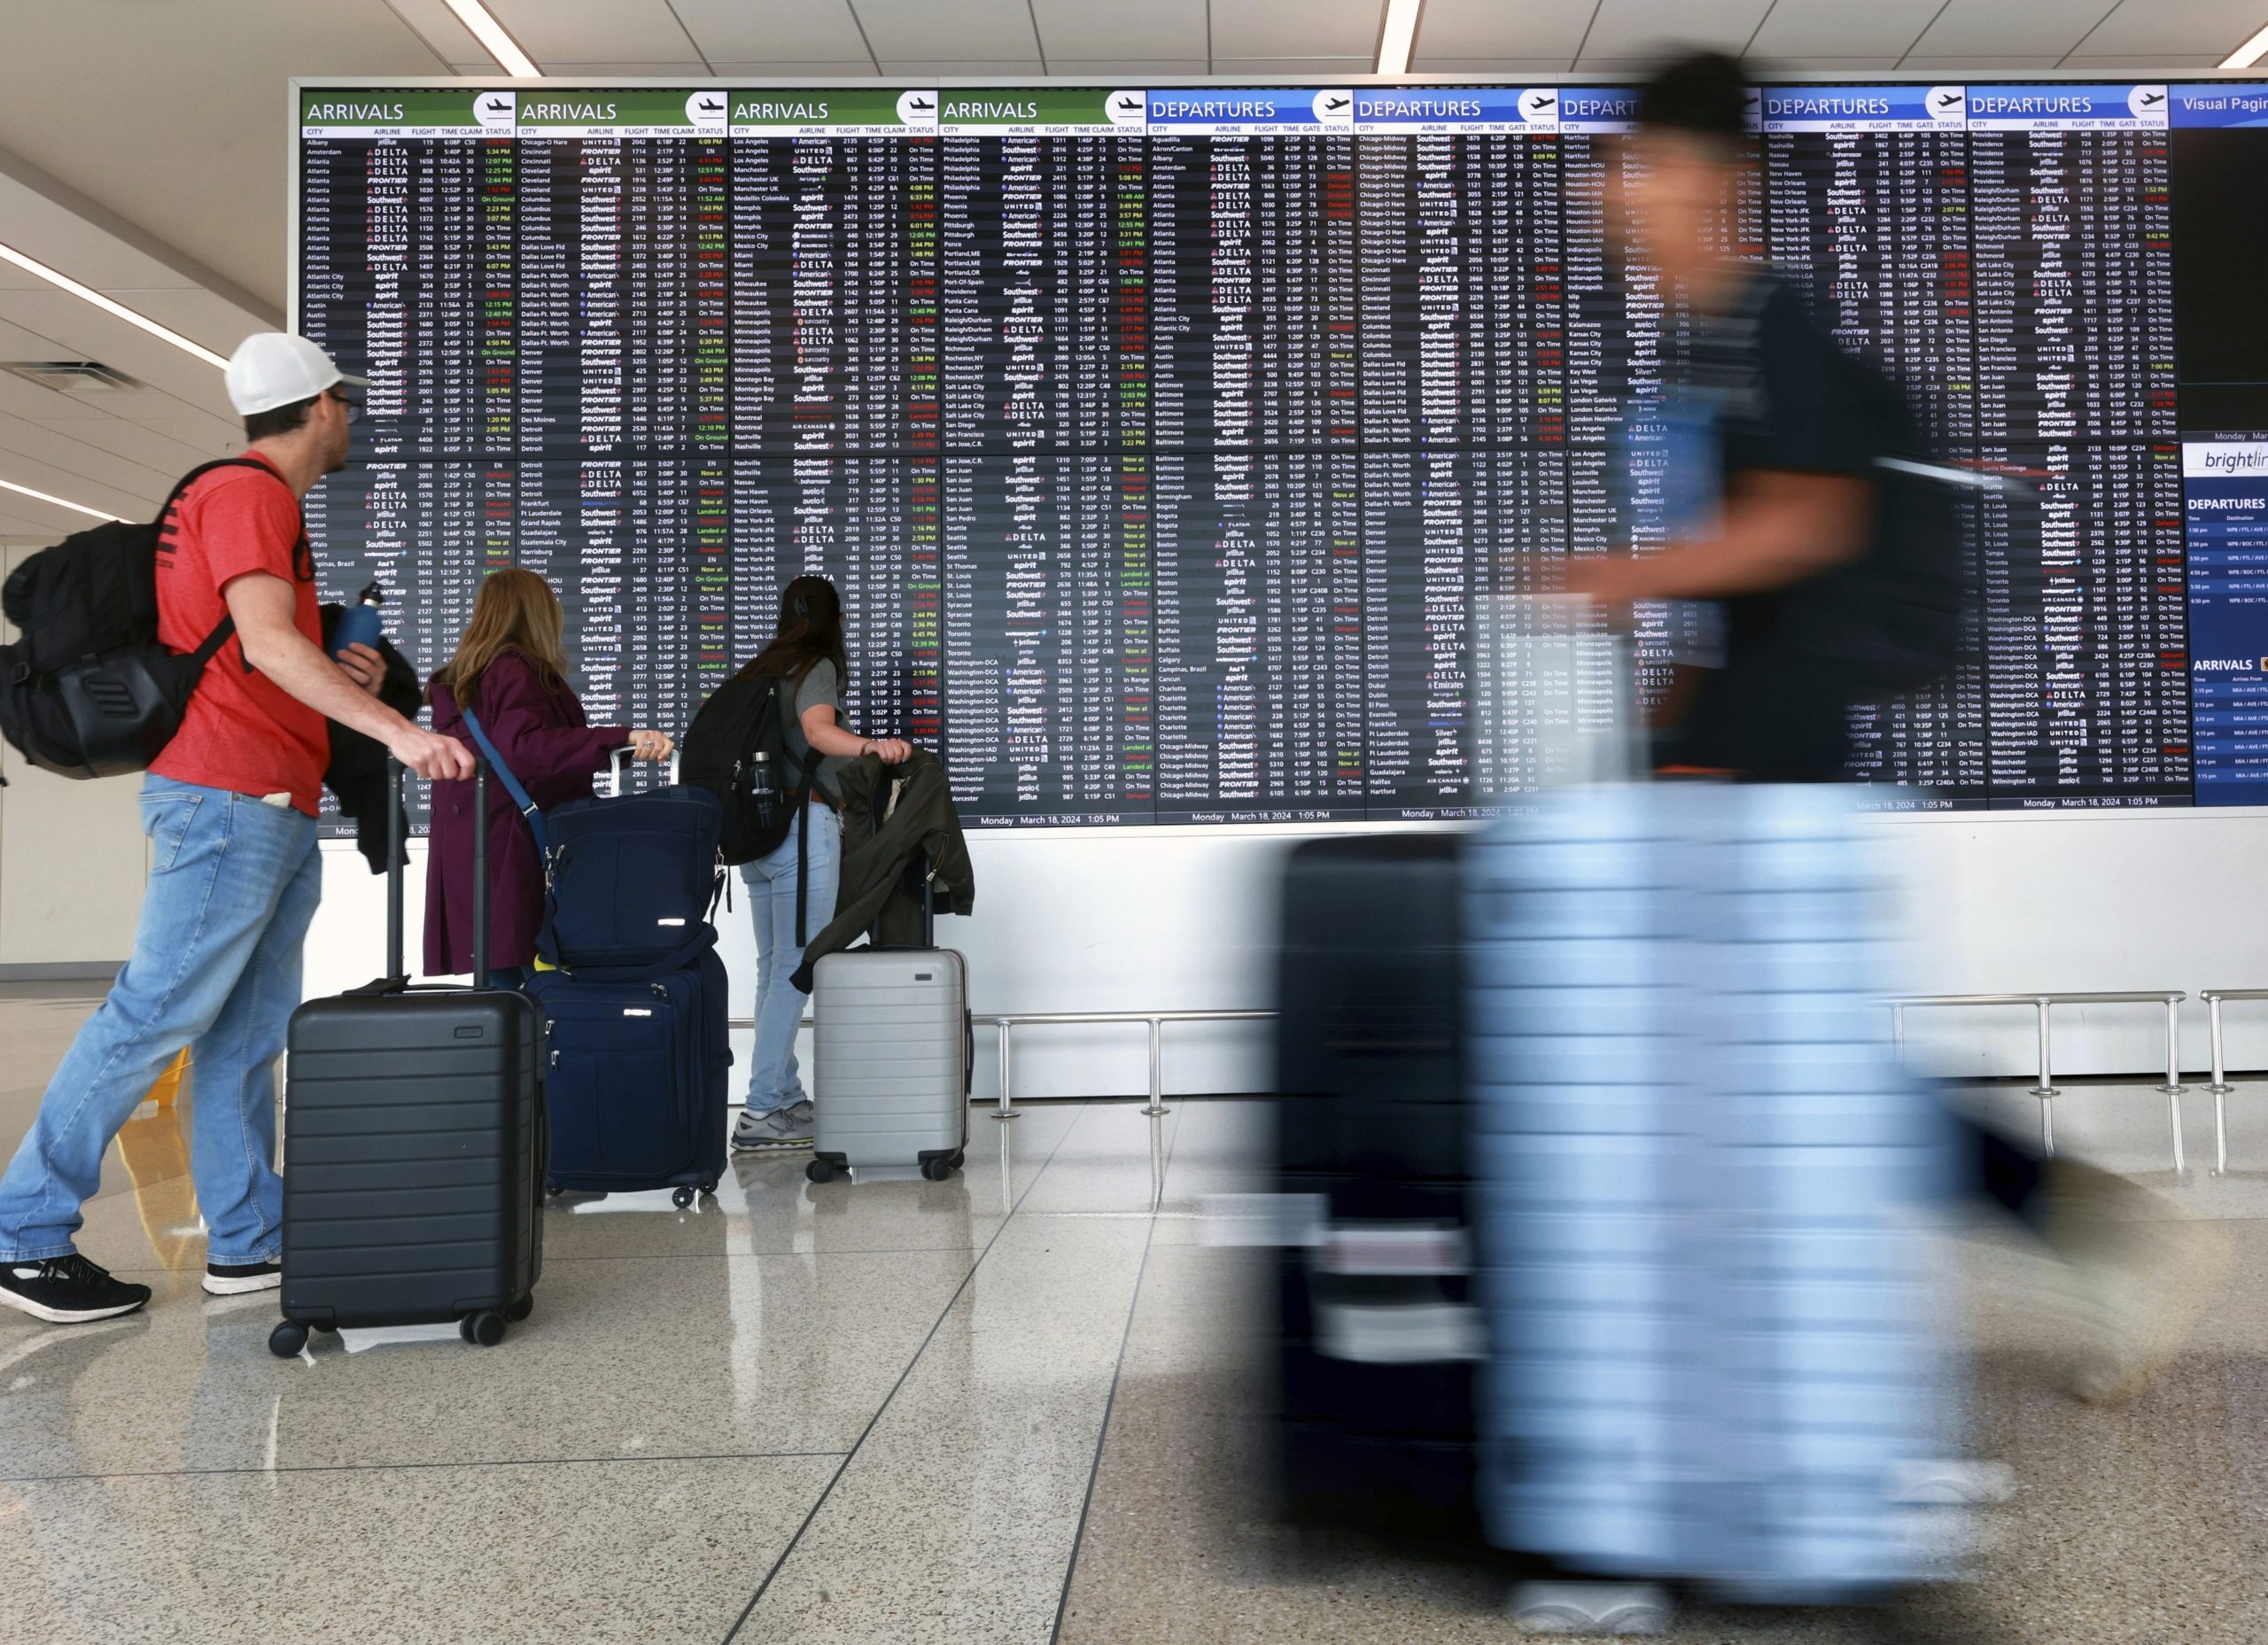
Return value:
<svg viewBox="0 0 2268 1645">
<path fill-rule="evenodd" d="M 723 960 L 660 976 L 538 971 L 551 1191 L 714 1193 L 726 1159 L 730 1023 Z"/>
</svg>

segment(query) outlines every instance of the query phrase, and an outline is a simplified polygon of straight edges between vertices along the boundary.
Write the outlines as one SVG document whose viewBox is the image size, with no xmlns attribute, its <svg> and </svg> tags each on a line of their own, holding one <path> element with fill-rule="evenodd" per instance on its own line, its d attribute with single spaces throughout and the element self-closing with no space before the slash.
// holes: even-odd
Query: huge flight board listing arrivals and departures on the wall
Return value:
<svg viewBox="0 0 2268 1645">
<path fill-rule="evenodd" d="M 2039 488 L 1969 508 L 1960 674 L 1857 715 L 1880 803 L 2268 792 L 2225 667 L 2268 653 L 2268 606 L 2191 438 L 2261 449 L 2268 388 L 2216 377 L 2195 429 L 2214 320 L 2177 315 L 2241 302 L 2184 284 L 2186 134 L 2257 222 L 2263 102 L 1760 88 L 1735 250 L 1950 461 Z M 1486 601 L 1674 524 L 1651 408 L 1685 318 L 1613 234 L 1633 113 L 1613 86 L 304 88 L 297 327 L 372 379 L 308 499 L 324 594 L 376 579 L 429 672 L 526 565 L 592 722 L 680 731 L 810 570 L 848 613 L 846 719 L 937 749 L 971 824 L 1476 815 L 1526 781 L 1476 735 Z M 1642 613 L 1656 687 L 1672 638 Z"/>
</svg>

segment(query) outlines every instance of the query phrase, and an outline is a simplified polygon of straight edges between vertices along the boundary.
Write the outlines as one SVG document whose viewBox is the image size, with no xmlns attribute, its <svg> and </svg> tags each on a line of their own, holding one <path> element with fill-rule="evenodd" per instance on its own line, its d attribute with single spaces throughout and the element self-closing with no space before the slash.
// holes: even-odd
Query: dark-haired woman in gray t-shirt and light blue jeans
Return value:
<svg viewBox="0 0 2268 1645">
<path fill-rule="evenodd" d="M 844 860 L 837 778 L 860 756 L 873 753 L 885 765 L 898 765 L 912 758 L 912 749 L 894 737 L 857 737 L 841 728 L 841 687 L 850 674 L 844 660 L 844 606 L 835 583 L 823 576 L 798 576 L 787 585 L 780 594 L 780 626 L 748 669 L 778 674 L 796 685 L 796 712 L 787 722 L 794 765 L 785 776 L 801 790 L 803 774 L 810 771 L 812 801 L 769 855 L 739 869 L 755 917 L 755 1060 L 748 1071 L 748 1112 L 733 1125 L 733 1146 L 792 1153 L 812 1146 L 812 1103 L 796 1066 L 803 994 L 789 978 L 803 964 L 803 937 L 835 917 Z M 807 844 L 798 846 L 798 833 L 810 835 Z M 803 871 L 810 874 L 810 889 L 798 933 L 796 878 Z"/>
</svg>

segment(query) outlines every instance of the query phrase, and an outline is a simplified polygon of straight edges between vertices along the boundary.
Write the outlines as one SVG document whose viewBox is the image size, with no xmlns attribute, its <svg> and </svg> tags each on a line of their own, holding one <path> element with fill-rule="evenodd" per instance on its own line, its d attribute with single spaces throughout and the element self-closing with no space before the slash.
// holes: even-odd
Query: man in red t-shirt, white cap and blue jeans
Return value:
<svg viewBox="0 0 2268 1645">
<path fill-rule="evenodd" d="M 195 1046 L 191 1175 L 206 1225 L 204 1289 L 281 1284 L 284 1184 L 274 1062 L 299 1003 L 299 953 L 322 894 L 315 805 L 329 722 L 383 742 L 420 776 L 472 776 L 472 756 L 376 701 L 370 647 L 322 651 L 299 501 L 347 465 L 354 402 L 306 338 L 263 331 L 229 361 L 229 399 L 256 465 L 218 467 L 161 522 L 159 640 L 195 651 L 236 635 L 197 683 L 143 783 L 150 885 L 134 958 L 86 1019 L 0 1175 L 0 1302 L 43 1321 L 132 1314 L 122 1284 L 73 1246 L 102 1153 L 159 1071 Z"/>
</svg>

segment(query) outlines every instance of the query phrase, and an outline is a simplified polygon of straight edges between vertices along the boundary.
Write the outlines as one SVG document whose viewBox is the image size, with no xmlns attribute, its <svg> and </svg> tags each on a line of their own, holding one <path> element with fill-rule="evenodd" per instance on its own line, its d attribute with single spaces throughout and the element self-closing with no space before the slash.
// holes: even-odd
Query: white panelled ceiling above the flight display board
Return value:
<svg viewBox="0 0 2268 1645">
<path fill-rule="evenodd" d="M 1340 79 L 1383 0 L 488 0 L 549 75 Z M 1778 68 L 2211 68 L 2268 0 L 1427 0 L 1413 73 L 1642 66 L 1708 43 Z M 277 324 L 293 75 L 494 75 L 445 0 L 0 0 L 0 241 L 227 352 Z M 100 109 L 88 118 L 86 109 Z M 0 479 L 150 508 L 225 452 L 220 372 L 0 265 L 0 361 L 100 358 L 150 383 L 0 377 Z M 0 490 L 0 540 L 82 517 Z"/>
</svg>

